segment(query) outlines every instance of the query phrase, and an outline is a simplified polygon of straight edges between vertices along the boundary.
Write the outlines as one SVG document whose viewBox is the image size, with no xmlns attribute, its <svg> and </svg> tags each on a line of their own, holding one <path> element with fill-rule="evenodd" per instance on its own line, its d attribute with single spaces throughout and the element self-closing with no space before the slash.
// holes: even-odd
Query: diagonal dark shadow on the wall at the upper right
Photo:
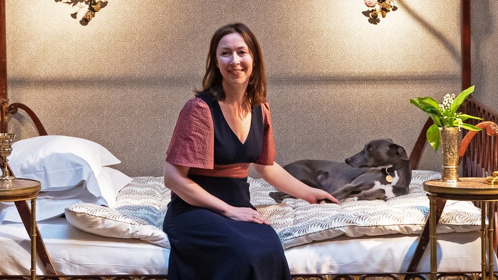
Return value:
<svg viewBox="0 0 498 280">
<path fill-rule="evenodd" d="M 453 59 L 461 64 L 461 55 L 459 52 L 459 47 L 456 47 L 452 45 L 450 40 L 446 39 L 444 34 L 439 32 L 430 22 L 428 22 L 425 18 L 423 18 L 421 15 L 417 13 L 417 11 L 410 6 L 406 4 L 405 0 L 397 0 L 396 5 L 401 9 L 404 10 L 408 16 L 413 18 L 415 23 L 420 24 L 421 27 L 423 27 L 426 31 L 429 32 L 434 38 L 436 38 L 438 41 L 443 44 L 443 46 L 448 50 L 448 52 L 451 54 Z M 457 4 L 456 4 L 457 5 Z M 460 25 L 455 26 L 456 29 L 460 29 Z"/>
</svg>

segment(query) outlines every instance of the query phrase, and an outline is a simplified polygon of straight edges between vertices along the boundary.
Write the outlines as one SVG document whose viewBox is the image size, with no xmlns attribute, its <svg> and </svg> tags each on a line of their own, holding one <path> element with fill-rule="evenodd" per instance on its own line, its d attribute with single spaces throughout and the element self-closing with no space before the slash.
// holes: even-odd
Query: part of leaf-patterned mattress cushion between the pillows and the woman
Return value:
<svg viewBox="0 0 498 280">
<path fill-rule="evenodd" d="M 162 177 L 134 177 L 119 191 L 113 208 L 74 203 L 64 211 L 67 221 L 82 231 L 117 238 L 137 238 L 169 248 L 162 231 L 170 191 Z"/>
</svg>

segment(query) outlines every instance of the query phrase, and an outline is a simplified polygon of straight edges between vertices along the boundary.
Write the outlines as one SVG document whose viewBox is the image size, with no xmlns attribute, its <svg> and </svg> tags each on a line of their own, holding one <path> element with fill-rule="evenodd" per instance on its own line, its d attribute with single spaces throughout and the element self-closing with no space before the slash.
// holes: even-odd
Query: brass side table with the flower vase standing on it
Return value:
<svg viewBox="0 0 498 280">
<path fill-rule="evenodd" d="M 431 273 L 430 279 L 437 280 L 437 200 L 452 199 L 464 201 L 481 201 L 481 266 L 482 279 L 494 279 L 493 264 L 493 242 L 494 242 L 494 208 L 492 202 L 498 201 L 498 186 L 486 184 L 485 178 L 460 178 L 456 183 L 447 183 L 441 180 L 430 180 L 424 182 L 424 190 L 428 192 L 430 201 L 429 208 L 429 231 L 431 242 Z M 488 226 L 486 228 L 486 208 L 488 209 Z M 486 230 L 488 246 L 486 247 Z M 486 261 L 486 249 L 488 250 L 488 261 Z"/>
</svg>

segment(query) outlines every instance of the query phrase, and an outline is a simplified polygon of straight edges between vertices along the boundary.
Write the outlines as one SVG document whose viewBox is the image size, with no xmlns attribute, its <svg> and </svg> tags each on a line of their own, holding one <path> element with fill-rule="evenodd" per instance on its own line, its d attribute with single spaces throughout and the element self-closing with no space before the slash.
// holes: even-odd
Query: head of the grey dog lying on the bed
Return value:
<svg viewBox="0 0 498 280">
<path fill-rule="evenodd" d="M 353 167 L 391 167 L 400 160 L 408 160 L 405 149 L 394 144 L 391 139 L 378 139 L 368 142 L 358 154 L 347 158 Z"/>
</svg>

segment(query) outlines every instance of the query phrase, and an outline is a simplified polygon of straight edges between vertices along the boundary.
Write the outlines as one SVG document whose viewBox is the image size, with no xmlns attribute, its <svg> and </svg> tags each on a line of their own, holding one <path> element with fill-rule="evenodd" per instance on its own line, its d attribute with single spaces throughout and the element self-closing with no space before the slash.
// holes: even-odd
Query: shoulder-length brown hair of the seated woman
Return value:
<svg viewBox="0 0 498 280">
<path fill-rule="evenodd" d="M 249 53 L 253 58 L 253 72 L 247 84 L 247 99 L 251 105 L 258 106 L 266 102 L 266 74 L 263 62 L 263 53 L 254 33 L 243 23 L 232 23 L 220 27 L 213 34 L 209 45 L 208 58 L 206 59 L 206 73 L 203 78 L 203 90 L 209 90 L 217 100 L 225 100 L 225 92 L 221 81 L 223 77 L 216 66 L 216 48 L 225 35 L 238 33 L 242 36 Z M 198 92 L 197 92 L 198 93 Z"/>
</svg>

